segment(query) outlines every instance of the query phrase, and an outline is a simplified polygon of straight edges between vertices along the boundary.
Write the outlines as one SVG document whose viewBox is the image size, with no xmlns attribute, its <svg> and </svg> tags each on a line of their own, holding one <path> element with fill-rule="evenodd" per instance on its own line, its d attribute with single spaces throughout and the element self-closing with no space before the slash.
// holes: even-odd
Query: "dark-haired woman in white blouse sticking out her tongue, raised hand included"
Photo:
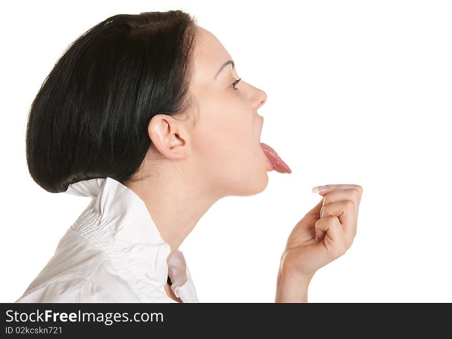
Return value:
<svg viewBox="0 0 452 339">
<path fill-rule="evenodd" d="M 219 199 L 291 172 L 260 142 L 266 99 L 182 11 L 118 14 L 82 34 L 32 103 L 26 154 L 42 188 L 92 199 L 16 301 L 198 302 L 180 244 Z M 362 188 L 319 193 L 281 255 L 276 302 L 307 301 L 355 236 Z"/>
</svg>

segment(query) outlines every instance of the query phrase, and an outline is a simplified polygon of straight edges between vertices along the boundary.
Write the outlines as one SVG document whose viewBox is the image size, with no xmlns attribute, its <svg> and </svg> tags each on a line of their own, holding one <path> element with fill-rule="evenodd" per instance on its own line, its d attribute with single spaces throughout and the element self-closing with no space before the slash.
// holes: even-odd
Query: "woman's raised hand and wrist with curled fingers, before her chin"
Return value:
<svg viewBox="0 0 452 339">
<path fill-rule="evenodd" d="M 327 185 L 322 200 L 292 229 L 281 256 L 276 302 L 306 302 L 309 282 L 353 243 L 363 188 Z"/>
</svg>

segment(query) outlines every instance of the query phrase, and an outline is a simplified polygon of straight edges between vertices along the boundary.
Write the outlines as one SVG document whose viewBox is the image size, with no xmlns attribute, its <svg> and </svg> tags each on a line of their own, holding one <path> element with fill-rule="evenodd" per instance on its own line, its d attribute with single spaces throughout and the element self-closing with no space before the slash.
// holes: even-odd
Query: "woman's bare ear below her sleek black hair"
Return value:
<svg viewBox="0 0 452 339">
<path fill-rule="evenodd" d="M 157 150 L 169 159 L 183 159 L 189 155 L 189 144 L 181 124 L 169 115 L 157 114 L 150 119 L 147 133 Z"/>
</svg>

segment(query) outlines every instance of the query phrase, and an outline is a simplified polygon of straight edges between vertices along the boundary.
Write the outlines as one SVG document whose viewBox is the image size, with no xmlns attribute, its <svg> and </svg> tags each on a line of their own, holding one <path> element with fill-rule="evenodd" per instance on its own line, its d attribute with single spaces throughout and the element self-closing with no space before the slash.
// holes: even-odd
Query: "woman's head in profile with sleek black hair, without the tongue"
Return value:
<svg viewBox="0 0 452 339">
<path fill-rule="evenodd" d="M 267 96 L 234 66 L 215 35 L 179 10 L 118 14 L 93 26 L 31 105 L 33 180 L 63 192 L 97 177 L 128 185 L 177 176 L 218 199 L 261 192 L 269 163 L 257 110 Z"/>
</svg>

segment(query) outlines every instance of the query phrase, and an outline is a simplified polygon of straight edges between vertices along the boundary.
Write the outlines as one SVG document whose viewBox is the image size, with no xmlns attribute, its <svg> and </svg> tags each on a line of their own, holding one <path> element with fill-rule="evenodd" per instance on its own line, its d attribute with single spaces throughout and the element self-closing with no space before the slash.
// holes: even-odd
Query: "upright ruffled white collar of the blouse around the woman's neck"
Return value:
<svg viewBox="0 0 452 339">
<path fill-rule="evenodd" d="M 177 297 L 183 302 L 197 301 L 182 251 L 178 249 L 166 261 L 171 247 L 133 190 L 106 177 L 70 184 L 65 193 L 92 198 L 72 228 L 109 254 L 140 300 L 166 295 L 169 276 Z"/>
</svg>

